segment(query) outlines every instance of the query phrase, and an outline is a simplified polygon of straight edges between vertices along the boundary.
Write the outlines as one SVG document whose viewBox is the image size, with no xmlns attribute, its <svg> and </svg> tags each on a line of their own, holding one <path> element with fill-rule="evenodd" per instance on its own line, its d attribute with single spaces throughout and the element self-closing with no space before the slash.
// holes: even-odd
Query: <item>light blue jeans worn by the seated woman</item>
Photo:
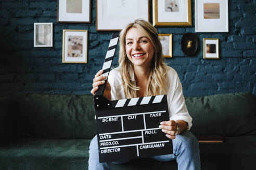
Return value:
<svg viewBox="0 0 256 170">
<path fill-rule="evenodd" d="M 197 138 L 189 131 L 177 135 L 173 139 L 173 154 L 150 157 L 158 161 L 173 161 L 176 159 L 178 169 L 200 169 L 200 157 Z M 99 163 L 97 135 L 89 146 L 89 167 L 88 169 L 112 169 L 112 163 L 121 164 L 128 161 Z"/>
</svg>

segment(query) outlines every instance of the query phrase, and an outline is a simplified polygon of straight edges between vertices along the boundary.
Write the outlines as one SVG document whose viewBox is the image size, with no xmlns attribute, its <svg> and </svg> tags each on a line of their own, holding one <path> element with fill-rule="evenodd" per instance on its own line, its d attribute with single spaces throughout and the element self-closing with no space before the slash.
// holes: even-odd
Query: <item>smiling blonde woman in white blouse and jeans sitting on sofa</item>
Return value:
<svg viewBox="0 0 256 170">
<path fill-rule="evenodd" d="M 92 94 L 104 84 L 100 70 L 93 80 Z M 159 127 L 173 139 L 173 154 L 150 157 L 159 161 L 175 160 L 178 169 L 200 169 L 198 141 L 188 130 L 192 123 L 180 79 L 163 62 L 158 32 L 149 22 L 135 20 L 120 32 L 119 67 L 111 70 L 104 96 L 109 100 L 167 94 L 170 120 Z M 119 161 L 114 163 L 124 163 Z M 99 163 L 97 136 L 89 147 L 89 169 L 111 169 L 112 162 Z"/>
</svg>

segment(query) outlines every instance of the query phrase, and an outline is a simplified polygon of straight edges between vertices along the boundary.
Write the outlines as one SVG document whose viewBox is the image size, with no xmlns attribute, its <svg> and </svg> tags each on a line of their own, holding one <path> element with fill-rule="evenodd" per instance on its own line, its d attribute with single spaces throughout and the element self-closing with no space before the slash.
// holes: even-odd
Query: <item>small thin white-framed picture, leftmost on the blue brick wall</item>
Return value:
<svg viewBox="0 0 256 170">
<path fill-rule="evenodd" d="M 34 23 L 34 47 L 53 47 L 53 23 Z"/>
</svg>

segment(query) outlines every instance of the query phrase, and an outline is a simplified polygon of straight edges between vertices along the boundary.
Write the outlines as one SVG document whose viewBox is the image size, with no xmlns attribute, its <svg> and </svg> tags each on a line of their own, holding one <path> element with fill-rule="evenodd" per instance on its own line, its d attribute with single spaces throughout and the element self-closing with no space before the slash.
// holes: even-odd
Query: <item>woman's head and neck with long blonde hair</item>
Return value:
<svg viewBox="0 0 256 170">
<path fill-rule="evenodd" d="M 131 56 L 136 53 L 145 55 L 136 59 Z M 127 84 L 124 86 L 127 98 L 166 93 L 164 75 L 170 68 L 163 62 L 158 32 L 150 23 L 136 20 L 120 32 L 119 63 L 122 83 Z"/>
</svg>

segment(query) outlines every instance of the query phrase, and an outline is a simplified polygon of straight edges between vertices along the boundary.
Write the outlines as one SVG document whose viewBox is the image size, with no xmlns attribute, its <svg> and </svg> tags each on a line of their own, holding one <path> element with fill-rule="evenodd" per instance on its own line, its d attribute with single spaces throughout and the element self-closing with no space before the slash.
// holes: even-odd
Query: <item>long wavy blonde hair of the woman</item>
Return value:
<svg viewBox="0 0 256 170">
<path fill-rule="evenodd" d="M 147 34 L 155 51 L 144 96 L 165 94 L 165 74 L 169 70 L 169 67 L 163 62 L 162 45 L 158 38 L 157 30 L 149 22 L 144 20 L 135 20 L 120 32 L 119 69 L 121 70 L 124 94 L 126 98 L 134 98 L 136 97 L 136 91 L 139 90 L 139 87 L 136 87 L 136 84 L 132 82 L 131 73 L 133 73 L 133 63 L 127 58 L 125 51 L 125 37 L 132 27 L 136 27 L 138 30 Z"/>
</svg>

